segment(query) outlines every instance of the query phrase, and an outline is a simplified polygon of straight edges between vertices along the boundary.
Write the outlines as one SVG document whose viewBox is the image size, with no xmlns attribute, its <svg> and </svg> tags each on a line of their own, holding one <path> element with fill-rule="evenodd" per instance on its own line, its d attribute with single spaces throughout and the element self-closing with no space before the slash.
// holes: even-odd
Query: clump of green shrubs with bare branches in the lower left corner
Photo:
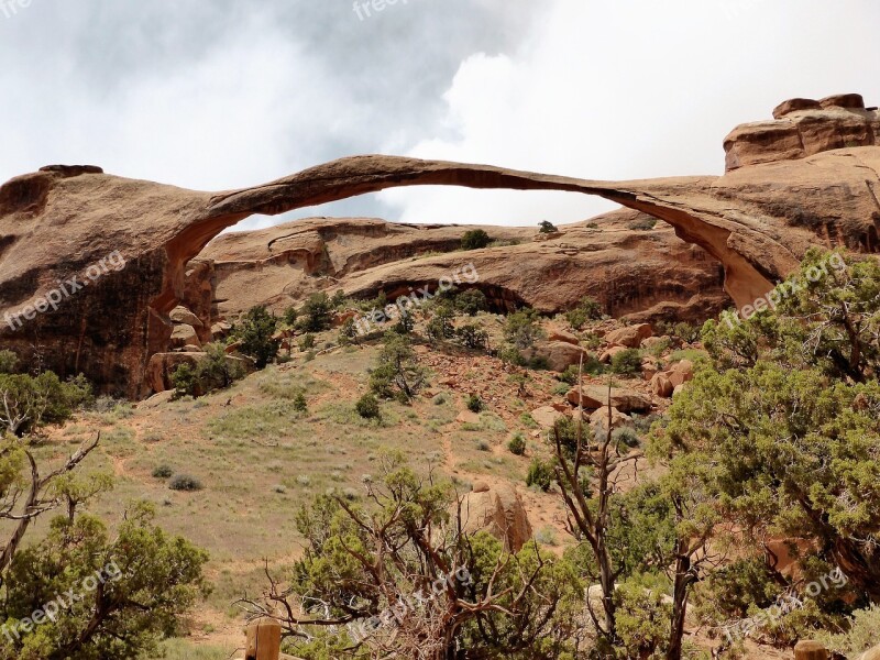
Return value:
<svg viewBox="0 0 880 660">
<path fill-rule="evenodd" d="M 3 360 L 4 369 L 14 369 L 9 354 Z M 33 433 L 92 403 L 82 378 L 3 374 L 0 395 L 0 520 L 7 537 L 0 546 L 0 658 L 128 660 L 156 652 L 207 593 L 206 553 L 167 536 L 147 504 L 131 504 L 112 534 L 86 513 L 113 487 L 107 474 L 84 469 L 100 436 L 61 463 L 41 464 Z M 113 441 L 124 442 L 122 436 Z M 46 525 L 54 513 L 59 515 Z"/>
</svg>

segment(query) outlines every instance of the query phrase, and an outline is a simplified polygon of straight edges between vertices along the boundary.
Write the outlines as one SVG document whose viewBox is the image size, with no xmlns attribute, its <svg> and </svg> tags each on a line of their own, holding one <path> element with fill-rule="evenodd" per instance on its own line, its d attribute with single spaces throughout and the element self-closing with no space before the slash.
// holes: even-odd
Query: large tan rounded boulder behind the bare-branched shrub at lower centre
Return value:
<svg viewBox="0 0 880 660">
<path fill-rule="evenodd" d="M 531 522 L 522 497 L 512 485 L 469 493 L 462 504 L 462 517 L 468 531 L 486 530 L 510 552 L 518 552 L 531 539 Z"/>
</svg>

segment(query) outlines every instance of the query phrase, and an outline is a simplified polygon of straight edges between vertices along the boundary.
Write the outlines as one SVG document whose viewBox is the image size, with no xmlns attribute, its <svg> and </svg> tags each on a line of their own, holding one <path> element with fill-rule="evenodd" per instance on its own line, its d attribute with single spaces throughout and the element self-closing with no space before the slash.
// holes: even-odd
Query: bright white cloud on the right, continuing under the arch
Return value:
<svg viewBox="0 0 880 660">
<path fill-rule="evenodd" d="M 409 155 L 584 178 L 721 174 L 722 140 L 794 96 L 880 102 L 871 0 L 553 0 L 522 47 L 465 59 Z M 408 222 L 574 221 L 576 195 L 407 188 Z"/>
</svg>

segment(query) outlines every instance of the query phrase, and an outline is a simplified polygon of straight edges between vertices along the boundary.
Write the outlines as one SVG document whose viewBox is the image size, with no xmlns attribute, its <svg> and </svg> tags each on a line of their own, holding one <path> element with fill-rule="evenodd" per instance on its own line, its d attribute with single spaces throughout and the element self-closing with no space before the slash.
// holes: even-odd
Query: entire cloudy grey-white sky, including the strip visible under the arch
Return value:
<svg viewBox="0 0 880 660">
<path fill-rule="evenodd" d="M 0 0 L 0 179 L 85 163 L 222 190 L 362 153 L 604 179 L 721 174 L 725 134 L 783 99 L 880 103 L 877 0 L 367 8 Z M 606 205 L 410 188 L 239 229 L 309 215 L 535 224 Z"/>
</svg>

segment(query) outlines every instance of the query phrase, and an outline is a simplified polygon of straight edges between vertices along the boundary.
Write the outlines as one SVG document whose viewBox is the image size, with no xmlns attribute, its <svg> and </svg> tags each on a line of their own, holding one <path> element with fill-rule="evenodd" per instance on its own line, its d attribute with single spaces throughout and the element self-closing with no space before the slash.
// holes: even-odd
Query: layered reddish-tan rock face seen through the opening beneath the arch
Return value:
<svg viewBox="0 0 880 660">
<path fill-rule="evenodd" d="M 474 227 L 315 218 L 222 234 L 199 261 L 213 264 L 204 273 L 216 282 L 218 318 L 254 305 L 282 312 L 317 290 L 341 288 L 356 298 L 382 290 L 394 300 L 426 287 L 433 293 L 443 279 L 480 288 L 497 311 L 528 305 L 554 314 L 591 296 L 614 316 L 697 320 L 727 306 L 717 262 L 669 226 L 629 229 L 644 218 L 617 211 L 593 219 L 598 229 L 571 224 L 552 238 L 537 228 L 482 227 L 510 244 L 470 252 L 459 248 Z"/>
</svg>

